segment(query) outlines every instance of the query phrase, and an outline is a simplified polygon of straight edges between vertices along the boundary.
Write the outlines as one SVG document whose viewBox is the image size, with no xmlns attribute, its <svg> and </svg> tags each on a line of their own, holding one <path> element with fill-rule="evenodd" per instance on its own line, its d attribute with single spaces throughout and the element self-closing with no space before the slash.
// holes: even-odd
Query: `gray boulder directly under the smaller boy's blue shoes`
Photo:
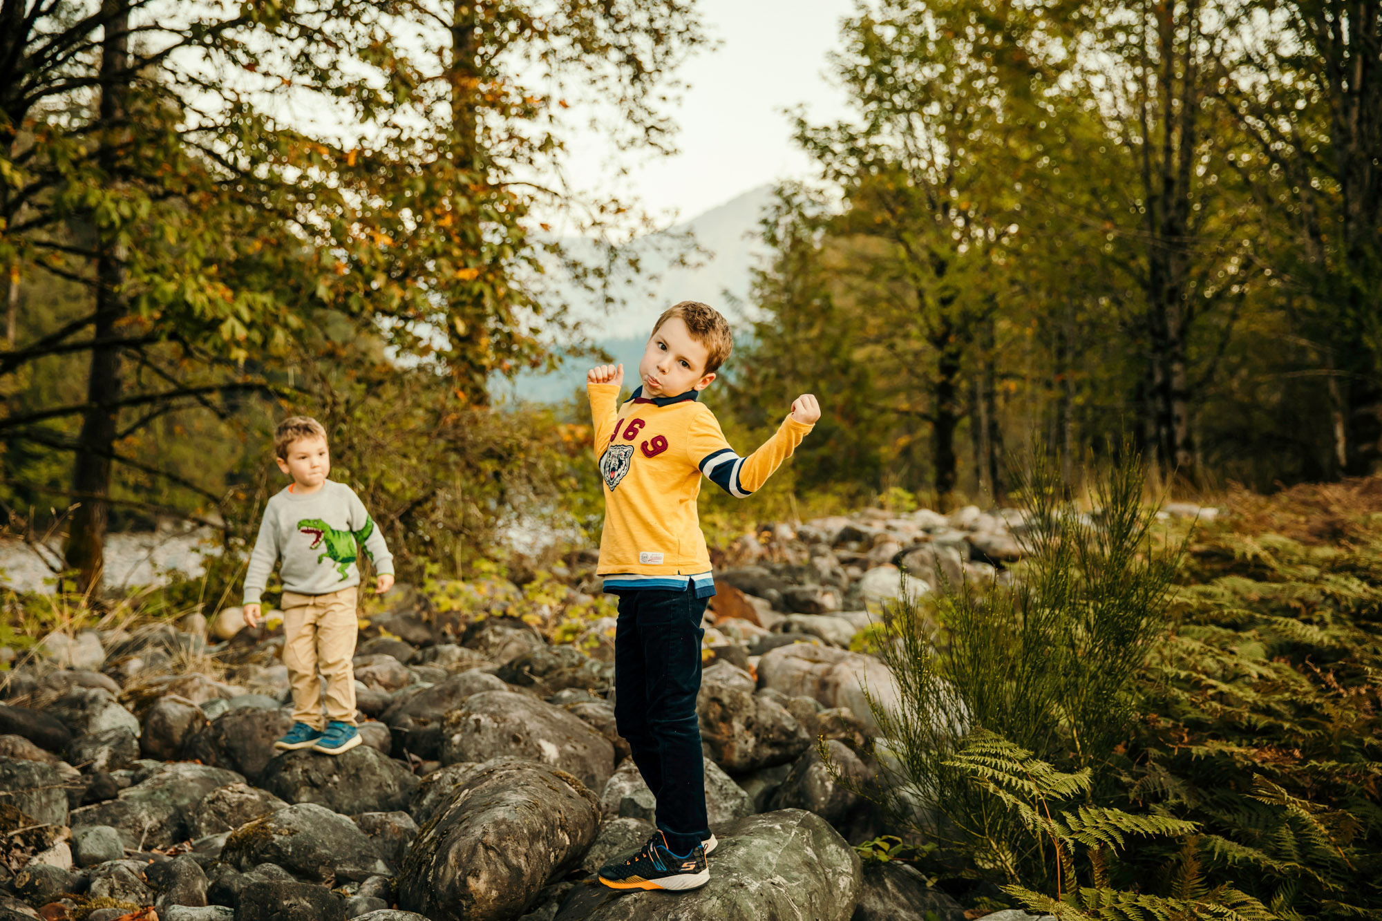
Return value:
<svg viewBox="0 0 1382 921">
<path fill-rule="evenodd" d="M 268 763 L 258 785 L 286 802 L 315 802 L 354 815 L 404 809 L 417 777 L 388 755 L 357 745 L 340 755 L 285 751 Z"/>
</svg>

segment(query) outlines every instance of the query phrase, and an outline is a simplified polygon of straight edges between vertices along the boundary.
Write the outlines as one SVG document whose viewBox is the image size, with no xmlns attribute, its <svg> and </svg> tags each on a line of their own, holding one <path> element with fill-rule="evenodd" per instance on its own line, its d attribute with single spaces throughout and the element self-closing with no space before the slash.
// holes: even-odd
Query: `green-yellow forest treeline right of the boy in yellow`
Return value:
<svg viewBox="0 0 1382 921">
<path fill-rule="evenodd" d="M 1378 469 L 1382 4 L 882 0 L 832 66 L 737 379 L 825 394 L 807 483 L 1002 495 L 1032 436 L 1067 481 L 1124 434 L 1190 488 Z"/>
</svg>

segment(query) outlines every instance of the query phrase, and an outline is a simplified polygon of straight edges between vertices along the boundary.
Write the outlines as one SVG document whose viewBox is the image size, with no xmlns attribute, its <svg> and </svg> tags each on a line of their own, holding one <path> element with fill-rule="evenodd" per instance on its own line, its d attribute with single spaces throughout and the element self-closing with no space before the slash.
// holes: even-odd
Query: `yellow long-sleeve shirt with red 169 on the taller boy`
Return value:
<svg viewBox="0 0 1382 921">
<path fill-rule="evenodd" d="M 761 487 L 813 426 L 792 416 L 763 447 L 741 458 L 698 391 L 645 398 L 640 387 L 618 405 L 616 384 L 586 384 L 594 454 L 604 481 L 605 521 L 598 575 L 605 590 L 684 588 L 714 592 L 701 532 L 701 476 L 745 498 Z"/>
</svg>

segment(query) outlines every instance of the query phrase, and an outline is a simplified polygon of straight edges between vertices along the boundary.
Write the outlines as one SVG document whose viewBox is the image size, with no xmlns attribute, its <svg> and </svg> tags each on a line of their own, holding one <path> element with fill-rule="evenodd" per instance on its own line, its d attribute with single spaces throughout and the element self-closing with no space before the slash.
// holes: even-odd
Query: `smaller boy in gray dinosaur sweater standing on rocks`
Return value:
<svg viewBox="0 0 1382 921">
<path fill-rule="evenodd" d="M 278 469 L 293 478 L 269 498 L 245 573 L 245 622 L 260 622 L 260 593 L 282 561 L 283 664 L 293 685 L 293 727 L 275 748 L 311 748 L 328 755 L 361 743 L 355 729 L 355 615 L 359 543 L 375 561 L 383 595 L 394 585 L 394 557 L 354 490 L 326 478 L 332 470 L 326 429 L 307 416 L 274 433 Z M 326 729 L 322 687 L 326 679 Z"/>
</svg>

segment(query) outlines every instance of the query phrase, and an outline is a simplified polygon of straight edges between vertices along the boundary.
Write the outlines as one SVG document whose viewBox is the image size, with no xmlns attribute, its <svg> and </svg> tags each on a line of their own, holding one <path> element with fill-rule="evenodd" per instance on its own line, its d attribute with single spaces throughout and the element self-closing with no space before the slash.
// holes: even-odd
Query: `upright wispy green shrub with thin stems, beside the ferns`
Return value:
<svg viewBox="0 0 1382 921">
<path fill-rule="evenodd" d="M 1050 855 L 1020 817 L 995 808 L 952 759 L 977 729 L 1103 783 L 1107 772 L 1093 769 L 1128 734 L 1180 548 L 1151 541 L 1133 451 L 1095 480 L 1097 517 L 1064 503 L 1057 472 L 1034 456 L 1019 490 L 1028 560 L 1010 581 L 955 586 L 926 604 L 904 595 L 879 649 L 898 704 L 871 698 L 871 708 L 887 740 L 882 799 L 898 827 L 981 873 L 1056 884 Z"/>
</svg>

